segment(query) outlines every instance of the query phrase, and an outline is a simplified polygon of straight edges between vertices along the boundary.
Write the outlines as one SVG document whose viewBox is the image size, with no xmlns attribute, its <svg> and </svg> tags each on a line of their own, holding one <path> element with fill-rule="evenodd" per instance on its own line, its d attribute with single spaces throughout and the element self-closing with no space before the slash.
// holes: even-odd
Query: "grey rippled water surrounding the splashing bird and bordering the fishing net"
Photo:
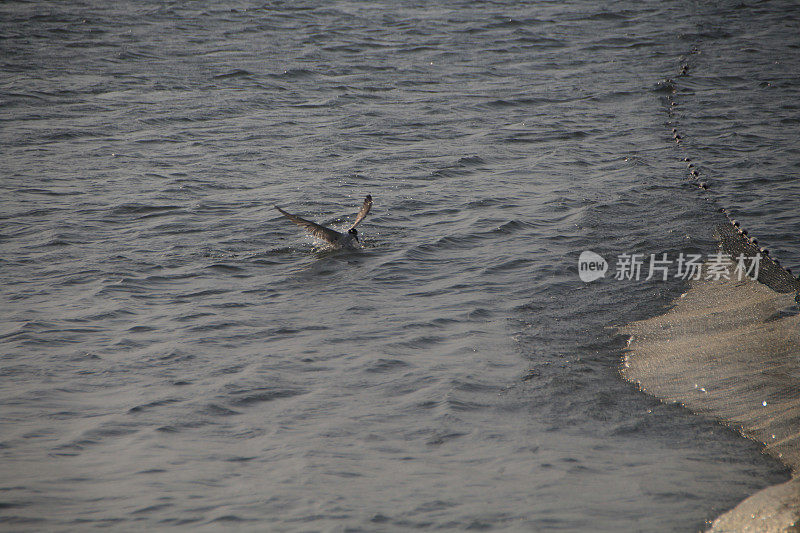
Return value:
<svg viewBox="0 0 800 533">
<path fill-rule="evenodd" d="M 620 378 L 682 285 L 575 263 L 726 208 L 798 264 L 798 15 L 2 4 L 5 526 L 686 531 L 787 479 Z M 357 252 L 273 209 L 367 193 Z"/>
</svg>

